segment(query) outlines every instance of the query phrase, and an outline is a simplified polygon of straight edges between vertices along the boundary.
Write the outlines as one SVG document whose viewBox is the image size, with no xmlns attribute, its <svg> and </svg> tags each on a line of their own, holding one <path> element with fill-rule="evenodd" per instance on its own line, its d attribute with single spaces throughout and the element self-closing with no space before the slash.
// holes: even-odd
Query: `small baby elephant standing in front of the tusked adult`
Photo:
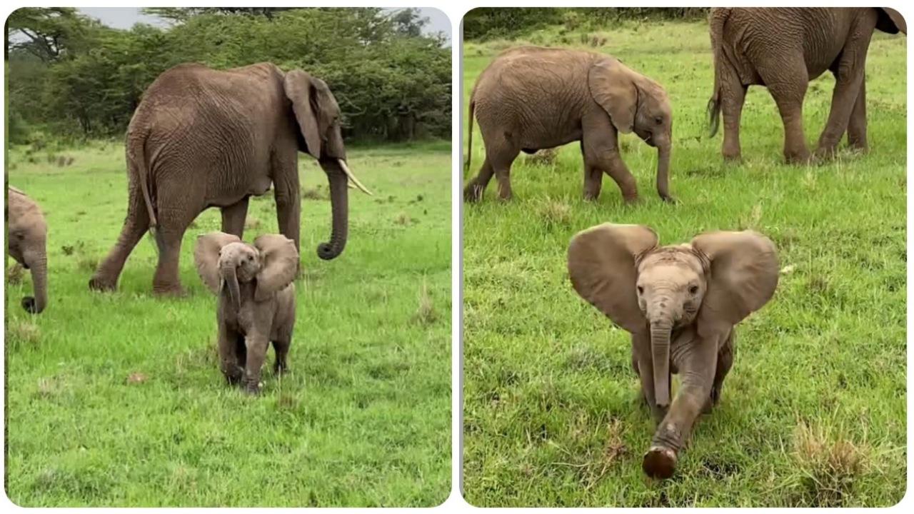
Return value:
<svg viewBox="0 0 914 514">
<path fill-rule="evenodd" d="M 271 341 L 274 371 L 288 369 L 295 325 L 295 242 L 266 234 L 251 245 L 210 232 L 197 238 L 194 262 L 203 283 L 218 295 L 219 367 L 229 384 L 240 382 L 245 391 L 259 393 L 260 368 Z"/>
</svg>

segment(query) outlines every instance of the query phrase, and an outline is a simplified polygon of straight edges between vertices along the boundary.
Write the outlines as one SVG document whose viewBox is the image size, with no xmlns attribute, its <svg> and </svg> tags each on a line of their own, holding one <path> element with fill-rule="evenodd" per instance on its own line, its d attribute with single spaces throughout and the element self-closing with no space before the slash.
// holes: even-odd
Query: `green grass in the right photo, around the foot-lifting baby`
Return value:
<svg viewBox="0 0 914 514">
<path fill-rule="evenodd" d="M 515 199 L 463 207 L 464 496 L 478 507 L 888 507 L 907 490 L 905 37 L 869 51 L 868 155 L 821 167 L 781 164 L 782 125 L 768 91 L 751 88 L 744 163 L 725 166 L 707 140 L 713 80 L 705 23 L 563 27 L 525 42 L 594 48 L 659 80 L 674 106 L 671 189 L 654 192 L 656 153 L 623 135 L 643 205 L 626 208 L 603 177 L 581 199 L 577 144 L 554 162 L 522 155 Z M 516 42 L 520 43 L 520 41 Z M 463 107 L 494 52 L 467 44 Z M 834 80 L 811 84 L 810 145 Z M 466 149 L 466 120 L 462 127 Z M 475 176 L 484 145 L 473 135 Z M 843 144 L 844 145 L 844 144 Z M 717 410 L 702 417 L 675 476 L 654 482 L 641 460 L 654 432 L 636 402 L 627 333 L 571 289 L 569 238 L 614 221 L 663 243 L 702 230 L 760 230 L 779 247 L 774 299 L 737 329 L 736 360 Z"/>
</svg>

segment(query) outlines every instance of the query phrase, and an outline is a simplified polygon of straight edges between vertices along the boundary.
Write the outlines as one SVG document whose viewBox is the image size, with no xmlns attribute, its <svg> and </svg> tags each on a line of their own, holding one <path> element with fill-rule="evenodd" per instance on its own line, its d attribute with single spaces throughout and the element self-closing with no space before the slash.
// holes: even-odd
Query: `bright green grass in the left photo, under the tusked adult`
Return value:
<svg viewBox="0 0 914 514">
<path fill-rule="evenodd" d="M 303 278 L 291 374 L 265 367 L 260 398 L 228 388 L 216 299 L 152 295 L 154 245 L 118 292 L 88 281 L 126 209 L 122 145 L 10 151 L 10 184 L 47 213 L 50 303 L 27 316 L 7 284 L 6 493 L 20 506 L 435 506 L 451 491 L 451 145 L 350 151 L 374 193 L 350 194 L 345 252 L 324 262 L 324 173 L 302 158 Z M 70 162 L 70 158 L 72 161 Z M 63 166 L 60 166 L 63 165 Z M 275 232 L 272 194 L 245 240 Z M 12 259 L 7 263 L 11 266 Z M 268 356 L 271 365 L 274 354 Z"/>
</svg>

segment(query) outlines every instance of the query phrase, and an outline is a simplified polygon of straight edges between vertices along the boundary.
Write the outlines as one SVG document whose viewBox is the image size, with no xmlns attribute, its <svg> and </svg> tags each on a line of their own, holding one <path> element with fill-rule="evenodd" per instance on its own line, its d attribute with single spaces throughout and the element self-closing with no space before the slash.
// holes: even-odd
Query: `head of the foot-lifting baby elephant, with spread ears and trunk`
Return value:
<svg viewBox="0 0 914 514">
<path fill-rule="evenodd" d="M 572 238 L 568 268 L 574 290 L 613 322 L 632 334 L 650 330 L 663 409 L 671 332 L 694 325 L 699 337 L 726 337 L 771 300 L 779 264 L 771 240 L 751 230 L 709 231 L 661 247 L 648 227 L 604 223 Z"/>
</svg>

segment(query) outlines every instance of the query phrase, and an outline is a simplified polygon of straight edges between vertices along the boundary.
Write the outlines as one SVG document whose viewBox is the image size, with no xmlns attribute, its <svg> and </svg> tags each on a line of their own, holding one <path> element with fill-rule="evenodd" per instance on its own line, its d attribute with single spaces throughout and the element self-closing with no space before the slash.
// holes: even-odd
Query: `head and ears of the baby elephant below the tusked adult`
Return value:
<svg viewBox="0 0 914 514">
<path fill-rule="evenodd" d="M 254 301 L 269 300 L 292 283 L 298 264 L 295 242 L 280 234 L 264 234 L 248 244 L 225 232 L 209 232 L 197 238 L 194 249 L 197 273 L 214 294 L 223 284 L 236 312 L 241 308 L 239 283 L 256 281 Z"/>
</svg>

